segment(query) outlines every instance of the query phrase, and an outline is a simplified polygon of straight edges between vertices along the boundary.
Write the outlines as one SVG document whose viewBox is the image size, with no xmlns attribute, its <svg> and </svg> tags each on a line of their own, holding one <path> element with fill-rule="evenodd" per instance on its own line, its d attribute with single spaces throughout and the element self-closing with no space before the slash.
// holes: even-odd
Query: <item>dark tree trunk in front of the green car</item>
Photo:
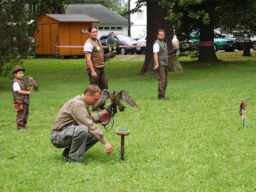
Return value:
<svg viewBox="0 0 256 192">
<path fill-rule="evenodd" d="M 209 13 L 210 23 L 208 25 L 204 25 L 203 22 L 201 22 L 200 25 L 200 40 L 201 42 L 204 41 L 214 41 L 214 17 L 215 17 L 215 7 L 214 5 L 209 5 L 209 2 L 204 2 L 202 4 L 204 7 L 208 7 L 207 10 Z M 218 58 L 214 51 L 214 46 L 199 46 L 199 57 L 198 61 L 200 62 L 217 62 Z"/>
</svg>

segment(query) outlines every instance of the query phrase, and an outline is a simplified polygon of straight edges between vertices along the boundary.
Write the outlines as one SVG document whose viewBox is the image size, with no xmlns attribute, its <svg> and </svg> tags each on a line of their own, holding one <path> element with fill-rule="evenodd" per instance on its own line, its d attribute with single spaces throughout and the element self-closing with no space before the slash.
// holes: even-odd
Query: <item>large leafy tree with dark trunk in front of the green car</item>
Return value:
<svg viewBox="0 0 256 192">
<path fill-rule="evenodd" d="M 214 41 L 214 28 L 225 33 L 256 33 L 255 0 L 161 0 L 174 20 L 175 33 L 188 40 L 192 30 L 200 32 L 199 41 Z M 185 36 L 184 36 L 185 35 Z M 213 46 L 199 46 L 199 61 L 217 61 Z"/>
</svg>

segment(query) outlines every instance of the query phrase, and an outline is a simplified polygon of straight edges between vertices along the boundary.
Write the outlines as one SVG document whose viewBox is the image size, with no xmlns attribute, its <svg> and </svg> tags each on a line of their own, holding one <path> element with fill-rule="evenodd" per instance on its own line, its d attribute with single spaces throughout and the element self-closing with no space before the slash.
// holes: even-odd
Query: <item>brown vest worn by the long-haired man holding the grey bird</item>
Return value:
<svg viewBox="0 0 256 192">
<path fill-rule="evenodd" d="M 93 45 L 92 57 L 91 57 L 93 67 L 96 67 L 96 68 L 105 67 L 103 48 L 100 41 L 99 43 L 97 43 L 97 41 L 89 37 L 85 43 L 87 42 Z M 89 65 L 87 63 L 86 63 L 86 69 L 89 69 Z"/>
</svg>

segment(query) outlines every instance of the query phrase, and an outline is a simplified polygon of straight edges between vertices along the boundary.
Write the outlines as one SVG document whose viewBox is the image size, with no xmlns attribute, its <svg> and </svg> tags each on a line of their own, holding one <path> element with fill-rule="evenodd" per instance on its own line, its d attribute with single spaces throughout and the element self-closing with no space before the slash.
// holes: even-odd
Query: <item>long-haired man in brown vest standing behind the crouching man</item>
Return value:
<svg viewBox="0 0 256 192">
<path fill-rule="evenodd" d="M 95 26 L 89 28 L 89 38 L 84 44 L 84 55 L 86 59 L 86 72 L 90 84 L 98 85 L 101 90 L 108 89 L 108 80 L 104 71 L 105 62 L 103 48 L 97 39 L 98 29 Z M 92 111 L 105 109 L 105 103 L 99 108 L 92 108 Z"/>
</svg>

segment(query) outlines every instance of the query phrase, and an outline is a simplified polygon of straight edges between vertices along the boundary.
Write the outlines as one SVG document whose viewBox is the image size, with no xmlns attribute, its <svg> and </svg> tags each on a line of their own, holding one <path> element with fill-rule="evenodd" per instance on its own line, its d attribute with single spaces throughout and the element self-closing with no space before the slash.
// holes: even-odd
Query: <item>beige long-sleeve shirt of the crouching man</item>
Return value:
<svg viewBox="0 0 256 192">
<path fill-rule="evenodd" d="M 91 114 L 85 96 L 82 94 L 77 95 L 62 106 L 52 130 L 63 130 L 71 125 L 85 125 L 89 132 L 104 144 L 107 140 L 95 123 L 100 123 L 100 118 L 98 114 Z"/>
</svg>

